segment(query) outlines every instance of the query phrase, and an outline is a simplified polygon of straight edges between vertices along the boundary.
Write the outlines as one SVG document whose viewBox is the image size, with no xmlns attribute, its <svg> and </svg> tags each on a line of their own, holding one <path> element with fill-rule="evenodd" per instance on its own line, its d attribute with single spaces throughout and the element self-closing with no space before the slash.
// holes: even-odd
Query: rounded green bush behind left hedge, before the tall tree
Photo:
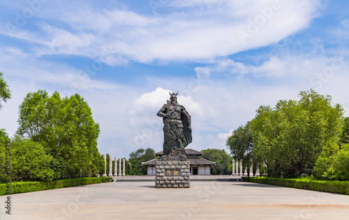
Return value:
<svg viewBox="0 0 349 220">
<path fill-rule="evenodd" d="M 16 136 L 11 142 L 12 181 L 51 181 L 53 157 L 47 155 L 43 145 Z"/>
</svg>

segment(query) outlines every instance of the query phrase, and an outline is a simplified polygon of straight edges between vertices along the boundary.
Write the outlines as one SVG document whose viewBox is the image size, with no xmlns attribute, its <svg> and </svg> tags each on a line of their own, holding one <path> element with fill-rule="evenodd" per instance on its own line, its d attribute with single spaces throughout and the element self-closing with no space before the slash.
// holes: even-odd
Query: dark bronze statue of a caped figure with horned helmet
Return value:
<svg viewBox="0 0 349 220">
<path fill-rule="evenodd" d="M 158 111 L 163 117 L 163 154 L 168 160 L 186 160 L 185 147 L 191 143 L 191 116 L 177 103 L 177 94 L 170 92 L 170 100 Z"/>
</svg>

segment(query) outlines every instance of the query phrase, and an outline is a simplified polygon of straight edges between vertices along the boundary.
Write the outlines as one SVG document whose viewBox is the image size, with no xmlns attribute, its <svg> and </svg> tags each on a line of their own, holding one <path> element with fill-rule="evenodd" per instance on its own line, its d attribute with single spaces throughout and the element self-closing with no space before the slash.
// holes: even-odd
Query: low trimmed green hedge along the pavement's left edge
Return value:
<svg viewBox="0 0 349 220">
<path fill-rule="evenodd" d="M 109 177 L 84 177 L 77 179 L 60 179 L 52 182 L 11 182 L 11 194 L 28 193 L 47 189 L 59 189 L 109 182 Z M 0 184 L 0 196 L 6 195 L 7 184 Z"/>
</svg>

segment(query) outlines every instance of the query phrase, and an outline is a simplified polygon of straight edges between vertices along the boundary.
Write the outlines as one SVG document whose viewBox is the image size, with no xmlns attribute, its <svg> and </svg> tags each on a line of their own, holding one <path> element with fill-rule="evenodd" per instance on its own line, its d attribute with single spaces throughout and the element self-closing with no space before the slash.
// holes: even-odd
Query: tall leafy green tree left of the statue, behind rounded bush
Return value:
<svg viewBox="0 0 349 220">
<path fill-rule="evenodd" d="M 79 94 L 61 98 L 56 91 L 29 93 L 20 105 L 17 134 L 43 145 L 53 156 L 55 179 L 96 175 L 103 169 L 98 153 L 99 124 Z"/>
</svg>

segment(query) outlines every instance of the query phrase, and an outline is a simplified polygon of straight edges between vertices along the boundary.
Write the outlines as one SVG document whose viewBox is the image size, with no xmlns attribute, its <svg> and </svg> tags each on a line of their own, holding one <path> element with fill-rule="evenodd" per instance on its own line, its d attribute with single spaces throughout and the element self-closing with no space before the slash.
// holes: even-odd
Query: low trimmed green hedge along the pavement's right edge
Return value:
<svg viewBox="0 0 349 220">
<path fill-rule="evenodd" d="M 245 181 L 349 195 L 349 182 L 346 181 L 327 181 L 310 178 L 281 179 L 272 177 L 245 177 Z"/>
</svg>

